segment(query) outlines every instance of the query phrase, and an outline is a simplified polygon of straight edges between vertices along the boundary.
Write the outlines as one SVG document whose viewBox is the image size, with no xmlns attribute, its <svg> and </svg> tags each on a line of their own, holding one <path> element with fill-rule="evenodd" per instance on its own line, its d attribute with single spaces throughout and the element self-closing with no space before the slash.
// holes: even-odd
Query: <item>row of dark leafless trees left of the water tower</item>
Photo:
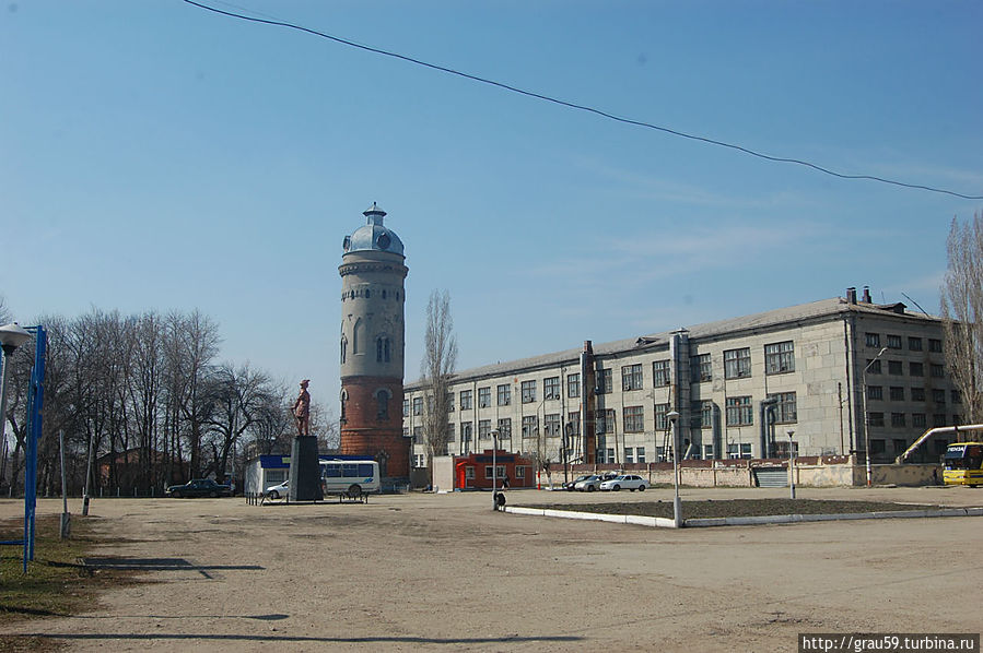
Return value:
<svg viewBox="0 0 983 653">
<path fill-rule="evenodd" d="M 0 323 L 9 311 L 0 301 Z M 242 477 L 245 460 L 289 453 L 296 435 L 292 384 L 248 361 L 221 361 L 218 324 L 199 311 L 124 316 L 91 310 L 39 318 L 47 329 L 37 491 L 60 491 L 59 434 L 71 494 L 160 495 L 189 478 Z M 34 341 L 11 357 L 0 492 L 23 490 L 26 396 Z M 321 451 L 337 448 L 337 425 L 312 405 Z"/>
</svg>

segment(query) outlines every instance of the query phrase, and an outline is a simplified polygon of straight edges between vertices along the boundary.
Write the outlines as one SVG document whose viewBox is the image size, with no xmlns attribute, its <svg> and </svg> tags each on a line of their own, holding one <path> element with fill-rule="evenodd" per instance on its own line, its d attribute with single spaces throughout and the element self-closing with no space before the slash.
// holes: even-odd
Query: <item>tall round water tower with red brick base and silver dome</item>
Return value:
<svg viewBox="0 0 983 653">
<path fill-rule="evenodd" d="M 378 461 L 384 478 L 408 483 L 402 437 L 402 241 L 375 202 L 367 224 L 344 237 L 341 274 L 341 453 Z"/>
</svg>

